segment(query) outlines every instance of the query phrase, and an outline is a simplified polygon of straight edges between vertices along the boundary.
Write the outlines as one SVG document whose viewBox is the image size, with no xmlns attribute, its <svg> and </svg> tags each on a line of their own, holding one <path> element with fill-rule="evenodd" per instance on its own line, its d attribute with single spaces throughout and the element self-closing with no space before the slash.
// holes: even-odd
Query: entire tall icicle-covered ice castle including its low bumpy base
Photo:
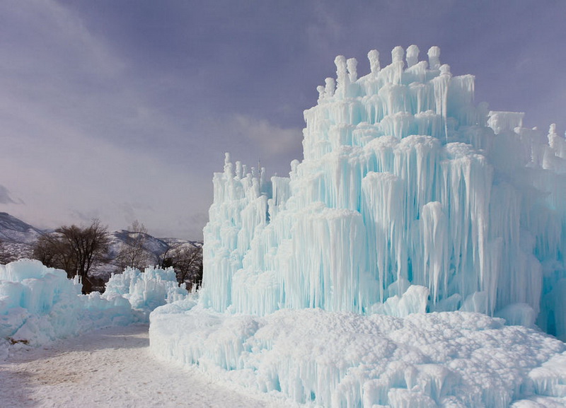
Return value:
<svg viewBox="0 0 566 408">
<path fill-rule="evenodd" d="M 154 353 L 306 406 L 566 406 L 566 139 L 440 55 L 337 57 L 289 177 L 226 153 Z"/>
</svg>

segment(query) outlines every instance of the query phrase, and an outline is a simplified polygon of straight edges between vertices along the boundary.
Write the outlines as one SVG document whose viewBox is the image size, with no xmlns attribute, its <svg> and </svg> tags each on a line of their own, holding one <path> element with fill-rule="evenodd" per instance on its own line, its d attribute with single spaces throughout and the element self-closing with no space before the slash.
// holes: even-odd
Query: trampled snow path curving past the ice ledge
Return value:
<svg viewBox="0 0 566 408">
<path fill-rule="evenodd" d="M 147 325 L 20 349 L 0 362 L 1 408 L 285 406 L 214 383 L 196 368 L 157 360 L 149 351 Z"/>
</svg>

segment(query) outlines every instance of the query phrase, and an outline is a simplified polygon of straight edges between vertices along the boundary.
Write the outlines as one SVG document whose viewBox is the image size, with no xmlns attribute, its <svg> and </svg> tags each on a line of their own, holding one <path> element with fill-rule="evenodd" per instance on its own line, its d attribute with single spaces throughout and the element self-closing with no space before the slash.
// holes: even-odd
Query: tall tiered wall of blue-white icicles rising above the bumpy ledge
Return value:
<svg viewBox="0 0 566 408">
<path fill-rule="evenodd" d="M 265 180 L 226 155 L 204 228 L 202 303 L 500 315 L 566 338 L 566 139 L 474 101 L 432 47 L 337 77 L 304 112 L 304 160 Z"/>
</svg>

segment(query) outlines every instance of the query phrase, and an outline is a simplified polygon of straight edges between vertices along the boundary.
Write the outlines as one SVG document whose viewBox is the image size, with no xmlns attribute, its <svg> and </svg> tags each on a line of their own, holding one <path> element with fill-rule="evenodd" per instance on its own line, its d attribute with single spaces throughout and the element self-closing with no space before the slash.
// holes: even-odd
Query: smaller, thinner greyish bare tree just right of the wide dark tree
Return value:
<svg viewBox="0 0 566 408">
<path fill-rule="evenodd" d="M 128 234 L 124 243 L 120 243 L 120 249 L 116 256 L 116 264 L 120 269 L 126 267 L 143 270 L 151 262 L 151 256 L 146 250 L 147 228 L 143 223 L 134 221 L 128 226 Z"/>
</svg>

